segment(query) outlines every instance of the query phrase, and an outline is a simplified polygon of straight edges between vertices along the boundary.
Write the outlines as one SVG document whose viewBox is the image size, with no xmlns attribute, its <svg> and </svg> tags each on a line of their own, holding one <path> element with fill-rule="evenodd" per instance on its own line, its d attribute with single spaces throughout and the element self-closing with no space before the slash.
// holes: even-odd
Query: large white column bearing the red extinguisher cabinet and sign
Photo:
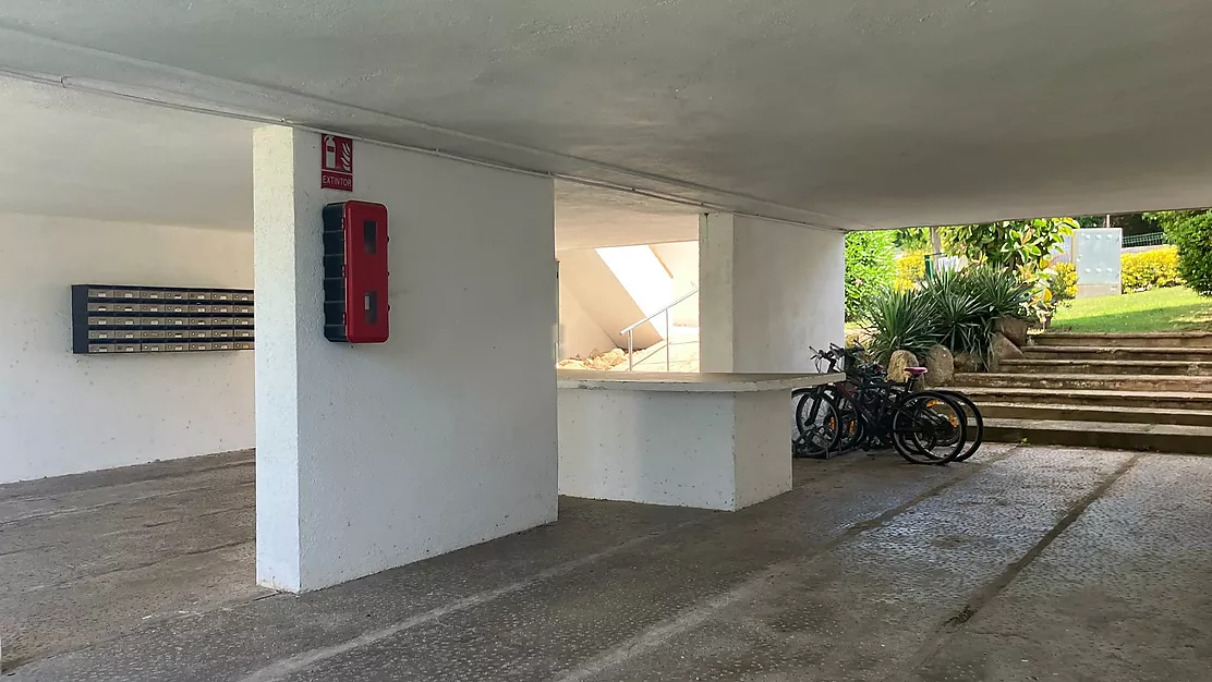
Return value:
<svg viewBox="0 0 1212 682">
<path fill-rule="evenodd" d="M 253 137 L 257 580 L 314 590 L 555 520 L 551 180 L 320 137 Z M 391 339 L 322 331 L 321 208 L 390 212 Z"/>
</svg>

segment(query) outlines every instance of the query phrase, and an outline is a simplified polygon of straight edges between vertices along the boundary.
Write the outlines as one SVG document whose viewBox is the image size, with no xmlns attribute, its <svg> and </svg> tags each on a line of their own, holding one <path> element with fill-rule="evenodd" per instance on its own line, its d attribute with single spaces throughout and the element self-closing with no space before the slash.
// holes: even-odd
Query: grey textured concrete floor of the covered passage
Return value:
<svg viewBox="0 0 1212 682">
<path fill-rule="evenodd" d="M 5 672 L 1212 678 L 1212 459 L 977 459 L 797 462 L 791 493 L 737 514 L 567 499 L 553 526 L 302 597 L 252 585 L 248 455 L 4 486 Z"/>
</svg>

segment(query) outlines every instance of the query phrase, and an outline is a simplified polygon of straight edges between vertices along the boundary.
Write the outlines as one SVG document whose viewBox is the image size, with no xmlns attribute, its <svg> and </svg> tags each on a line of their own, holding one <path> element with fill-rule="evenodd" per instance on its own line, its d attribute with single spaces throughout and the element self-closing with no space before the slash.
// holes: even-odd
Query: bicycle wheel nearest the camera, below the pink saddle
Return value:
<svg viewBox="0 0 1212 682">
<path fill-rule="evenodd" d="M 905 394 L 893 408 L 892 447 L 914 464 L 947 464 L 965 449 L 967 417 L 951 397 Z"/>
</svg>

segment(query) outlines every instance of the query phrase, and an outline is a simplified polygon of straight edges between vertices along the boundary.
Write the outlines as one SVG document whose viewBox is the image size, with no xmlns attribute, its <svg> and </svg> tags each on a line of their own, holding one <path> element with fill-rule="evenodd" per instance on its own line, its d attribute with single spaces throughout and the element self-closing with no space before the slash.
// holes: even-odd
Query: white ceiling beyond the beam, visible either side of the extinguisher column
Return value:
<svg viewBox="0 0 1212 682">
<path fill-rule="evenodd" d="M 0 78 L 0 212 L 247 230 L 255 124 Z M 698 239 L 693 207 L 556 183 L 558 247 Z"/>
</svg>

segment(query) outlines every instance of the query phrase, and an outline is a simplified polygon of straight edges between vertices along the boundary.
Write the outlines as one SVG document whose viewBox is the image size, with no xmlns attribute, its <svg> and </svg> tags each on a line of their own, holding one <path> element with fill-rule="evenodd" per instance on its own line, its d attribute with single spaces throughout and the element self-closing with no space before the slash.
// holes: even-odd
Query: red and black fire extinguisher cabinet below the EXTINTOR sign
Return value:
<svg viewBox="0 0 1212 682">
<path fill-rule="evenodd" d="M 324 336 L 383 343 L 389 334 L 387 206 L 342 201 L 324 207 Z"/>
</svg>

